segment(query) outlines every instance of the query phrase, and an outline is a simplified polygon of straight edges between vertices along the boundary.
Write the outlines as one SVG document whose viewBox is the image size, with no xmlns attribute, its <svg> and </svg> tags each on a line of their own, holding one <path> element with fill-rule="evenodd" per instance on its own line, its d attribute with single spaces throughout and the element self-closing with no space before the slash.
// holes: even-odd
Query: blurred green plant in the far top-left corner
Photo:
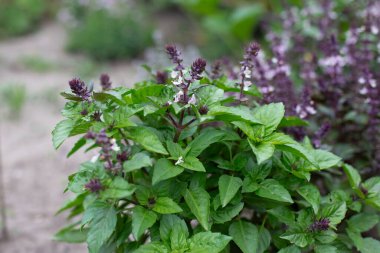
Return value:
<svg viewBox="0 0 380 253">
<path fill-rule="evenodd" d="M 47 0 L 1 1 L 0 37 L 20 35 L 34 29 L 50 9 Z M 45 16 L 46 17 L 46 16 Z"/>
</svg>

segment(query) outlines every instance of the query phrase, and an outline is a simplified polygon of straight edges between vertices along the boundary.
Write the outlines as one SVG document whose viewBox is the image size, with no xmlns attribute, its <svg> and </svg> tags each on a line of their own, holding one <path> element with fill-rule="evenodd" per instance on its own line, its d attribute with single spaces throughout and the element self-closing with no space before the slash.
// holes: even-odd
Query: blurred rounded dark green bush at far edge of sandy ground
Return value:
<svg viewBox="0 0 380 253">
<path fill-rule="evenodd" d="M 153 43 L 141 9 L 125 1 L 66 1 L 68 49 L 97 60 L 134 58 Z"/>
</svg>

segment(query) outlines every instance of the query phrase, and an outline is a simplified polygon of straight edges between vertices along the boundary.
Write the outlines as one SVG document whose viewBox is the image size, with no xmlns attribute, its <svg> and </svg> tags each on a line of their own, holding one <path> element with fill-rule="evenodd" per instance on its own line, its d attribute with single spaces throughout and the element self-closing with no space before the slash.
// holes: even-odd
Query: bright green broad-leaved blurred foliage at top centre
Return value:
<svg viewBox="0 0 380 253">
<path fill-rule="evenodd" d="M 202 55 L 215 59 L 239 56 L 241 46 L 250 40 L 260 41 L 264 34 L 260 25 L 273 13 L 283 9 L 278 0 L 171 0 L 199 28 L 196 42 Z M 286 1 L 301 6 L 302 0 Z"/>
</svg>

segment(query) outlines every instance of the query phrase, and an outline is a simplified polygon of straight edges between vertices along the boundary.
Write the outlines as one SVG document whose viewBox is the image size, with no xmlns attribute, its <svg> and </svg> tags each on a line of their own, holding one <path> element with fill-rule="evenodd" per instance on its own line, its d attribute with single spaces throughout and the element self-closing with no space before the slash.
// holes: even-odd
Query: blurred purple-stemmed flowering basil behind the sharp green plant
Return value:
<svg viewBox="0 0 380 253">
<path fill-rule="evenodd" d="M 310 136 L 368 178 L 380 173 L 380 4 L 349 2 L 307 1 L 286 8 L 281 25 L 268 21 L 270 46 L 254 58 L 250 81 L 259 103 L 283 102 L 288 116 L 308 119 L 287 133 Z M 219 75 L 236 80 L 223 66 Z"/>
</svg>

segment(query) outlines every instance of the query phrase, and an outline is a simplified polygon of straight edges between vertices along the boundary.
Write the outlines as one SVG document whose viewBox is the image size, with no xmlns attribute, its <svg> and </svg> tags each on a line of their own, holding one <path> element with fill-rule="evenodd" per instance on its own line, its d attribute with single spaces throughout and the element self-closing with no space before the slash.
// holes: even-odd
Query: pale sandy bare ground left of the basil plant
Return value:
<svg viewBox="0 0 380 253">
<path fill-rule="evenodd" d="M 66 54 L 64 42 L 65 33 L 57 24 L 46 25 L 26 37 L 0 42 L 0 85 L 22 83 L 28 94 L 19 120 L 9 121 L 0 116 L 11 235 L 8 242 L 0 243 L 1 253 L 87 252 L 83 245 L 52 241 L 54 232 L 64 224 L 64 215 L 56 217 L 54 213 L 68 198 L 63 194 L 67 176 L 81 161 L 81 155 L 65 158 L 68 144 L 58 152 L 51 144 L 50 133 L 60 120 L 63 105 L 57 93 L 67 88 L 67 81 L 77 74 L 78 63 L 86 60 Z M 20 58 L 30 55 L 58 63 L 59 67 L 37 73 L 20 66 Z M 114 83 L 132 84 L 136 79 L 137 71 L 128 63 L 104 66 L 104 70 L 110 70 L 107 72 Z"/>
</svg>

